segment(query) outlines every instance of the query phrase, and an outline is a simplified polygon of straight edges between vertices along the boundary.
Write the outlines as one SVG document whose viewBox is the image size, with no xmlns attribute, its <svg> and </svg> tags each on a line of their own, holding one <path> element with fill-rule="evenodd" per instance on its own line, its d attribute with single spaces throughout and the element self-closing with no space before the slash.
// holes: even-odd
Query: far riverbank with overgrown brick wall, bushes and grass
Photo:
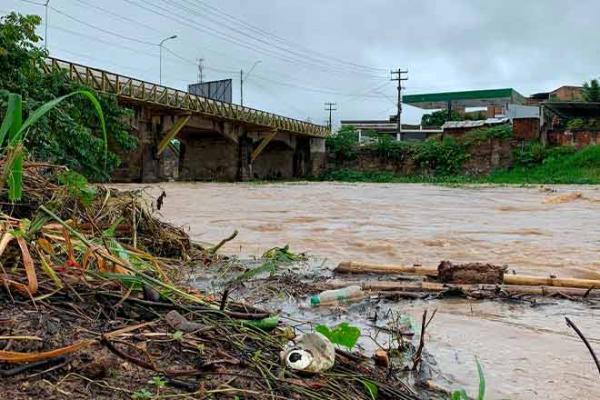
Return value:
<svg viewBox="0 0 600 400">
<path fill-rule="evenodd" d="M 322 181 L 434 184 L 600 184 L 600 145 L 544 147 L 518 142 L 508 128 L 473 131 L 423 143 L 377 138 L 359 145 L 354 133 L 328 139 Z"/>
</svg>

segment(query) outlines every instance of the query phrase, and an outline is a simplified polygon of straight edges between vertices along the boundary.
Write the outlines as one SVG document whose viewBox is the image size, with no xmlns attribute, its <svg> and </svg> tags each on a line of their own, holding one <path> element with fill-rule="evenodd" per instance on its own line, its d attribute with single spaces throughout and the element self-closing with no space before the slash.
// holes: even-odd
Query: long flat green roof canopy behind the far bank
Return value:
<svg viewBox="0 0 600 400">
<path fill-rule="evenodd" d="M 505 106 L 523 104 L 525 98 L 512 88 L 468 90 L 462 92 L 442 92 L 409 94 L 402 98 L 404 104 L 426 110 L 448 108 L 448 104 L 459 107 Z"/>
</svg>

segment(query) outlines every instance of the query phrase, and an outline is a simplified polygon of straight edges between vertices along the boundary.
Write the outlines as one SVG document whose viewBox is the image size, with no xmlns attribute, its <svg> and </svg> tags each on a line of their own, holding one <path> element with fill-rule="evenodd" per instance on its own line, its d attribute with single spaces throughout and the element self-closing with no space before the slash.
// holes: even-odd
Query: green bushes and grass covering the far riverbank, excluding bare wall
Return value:
<svg viewBox="0 0 600 400">
<path fill-rule="evenodd" d="M 600 184 L 600 145 L 581 150 L 571 146 L 544 147 L 539 142 L 524 142 L 513 151 L 513 165 L 485 175 L 463 171 L 474 144 L 489 139 L 508 140 L 510 127 L 502 125 L 474 130 L 459 138 L 433 137 L 425 142 L 396 142 L 390 136 L 377 137 L 359 146 L 351 128 L 344 128 L 328 139 L 333 165 L 319 180 L 343 182 L 436 183 L 436 184 Z M 402 162 L 412 159 L 416 174 L 392 171 L 361 171 L 348 167 L 360 151 L 370 151 L 383 160 Z M 351 165 L 351 163 L 350 163 Z"/>
</svg>

